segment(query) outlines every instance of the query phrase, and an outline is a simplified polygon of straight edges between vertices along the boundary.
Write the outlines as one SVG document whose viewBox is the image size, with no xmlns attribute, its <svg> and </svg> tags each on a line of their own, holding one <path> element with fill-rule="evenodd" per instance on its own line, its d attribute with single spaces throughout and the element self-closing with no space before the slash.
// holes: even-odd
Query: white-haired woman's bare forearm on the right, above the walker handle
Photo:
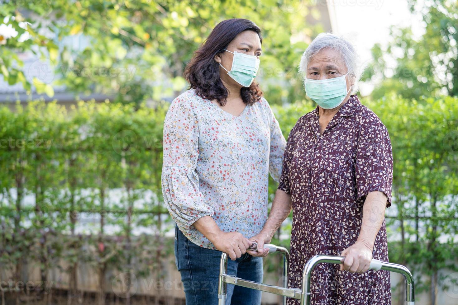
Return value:
<svg viewBox="0 0 458 305">
<path fill-rule="evenodd" d="M 386 204 L 387 196 L 382 192 L 375 191 L 367 194 L 363 205 L 363 220 L 357 241 L 363 242 L 371 251 L 385 218 Z"/>
</svg>

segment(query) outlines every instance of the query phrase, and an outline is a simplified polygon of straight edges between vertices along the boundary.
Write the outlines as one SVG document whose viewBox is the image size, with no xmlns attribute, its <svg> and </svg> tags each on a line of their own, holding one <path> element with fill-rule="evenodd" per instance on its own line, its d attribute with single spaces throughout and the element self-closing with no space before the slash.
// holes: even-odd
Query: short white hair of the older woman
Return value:
<svg viewBox="0 0 458 305">
<path fill-rule="evenodd" d="M 305 77 L 307 75 L 307 65 L 315 54 L 320 52 L 324 48 L 330 48 L 336 50 L 342 56 L 345 66 L 348 69 L 350 80 L 354 81 L 354 85 L 351 87 L 351 94 L 358 91 L 358 81 L 361 77 L 362 69 L 360 69 L 360 57 L 356 52 L 354 46 L 337 35 L 331 33 L 320 33 L 305 49 L 302 58 L 300 59 L 299 73 Z"/>
</svg>

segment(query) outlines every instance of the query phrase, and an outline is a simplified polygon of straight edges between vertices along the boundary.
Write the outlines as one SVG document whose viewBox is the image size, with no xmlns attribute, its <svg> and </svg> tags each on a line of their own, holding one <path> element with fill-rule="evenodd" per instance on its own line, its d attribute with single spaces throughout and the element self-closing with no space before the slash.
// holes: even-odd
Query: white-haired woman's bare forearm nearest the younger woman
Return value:
<svg viewBox="0 0 458 305">
<path fill-rule="evenodd" d="M 289 213 L 291 213 L 291 195 L 282 190 L 277 190 L 275 198 L 273 198 L 272 209 L 270 209 L 269 217 L 264 228 L 262 228 L 262 232 L 269 239 L 272 239 L 273 234 L 288 217 Z"/>
</svg>

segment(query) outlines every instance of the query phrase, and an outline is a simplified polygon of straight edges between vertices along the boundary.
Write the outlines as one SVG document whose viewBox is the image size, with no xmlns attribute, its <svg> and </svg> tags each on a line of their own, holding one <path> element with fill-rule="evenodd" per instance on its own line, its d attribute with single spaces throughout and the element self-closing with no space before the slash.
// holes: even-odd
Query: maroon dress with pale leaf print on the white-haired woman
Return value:
<svg viewBox="0 0 458 305">
<path fill-rule="evenodd" d="M 305 262 L 314 255 L 339 255 L 354 244 L 368 193 L 385 193 L 391 205 L 391 142 L 376 114 L 352 95 L 321 135 L 318 118 L 316 107 L 291 130 L 278 187 L 293 204 L 289 287 L 301 288 Z M 388 261 L 385 220 L 372 255 Z M 311 276 L 311 304 L 391 304 L 389 272 L 349 273 L 320 263 Z"/>
</svg>

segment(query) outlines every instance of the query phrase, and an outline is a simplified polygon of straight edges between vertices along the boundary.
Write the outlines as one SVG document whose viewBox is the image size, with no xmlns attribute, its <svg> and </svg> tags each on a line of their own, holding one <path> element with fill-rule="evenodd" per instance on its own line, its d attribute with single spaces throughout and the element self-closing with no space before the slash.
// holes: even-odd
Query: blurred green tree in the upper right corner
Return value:
<svg viewBox="0 0 458 305">
<path fill-rule="evenodd" d="M 412 14 L 422 16 L 425 32 L 391 29 L 393 41 L 372 48 L 373 62 L 362 80 L 377 83 L 374 100 L 390 92 L 404 98 L 458 95 L 458 3 L 408 0 Z M 378 82 L 377 79 L 382 81 Z"/>
</svg>

